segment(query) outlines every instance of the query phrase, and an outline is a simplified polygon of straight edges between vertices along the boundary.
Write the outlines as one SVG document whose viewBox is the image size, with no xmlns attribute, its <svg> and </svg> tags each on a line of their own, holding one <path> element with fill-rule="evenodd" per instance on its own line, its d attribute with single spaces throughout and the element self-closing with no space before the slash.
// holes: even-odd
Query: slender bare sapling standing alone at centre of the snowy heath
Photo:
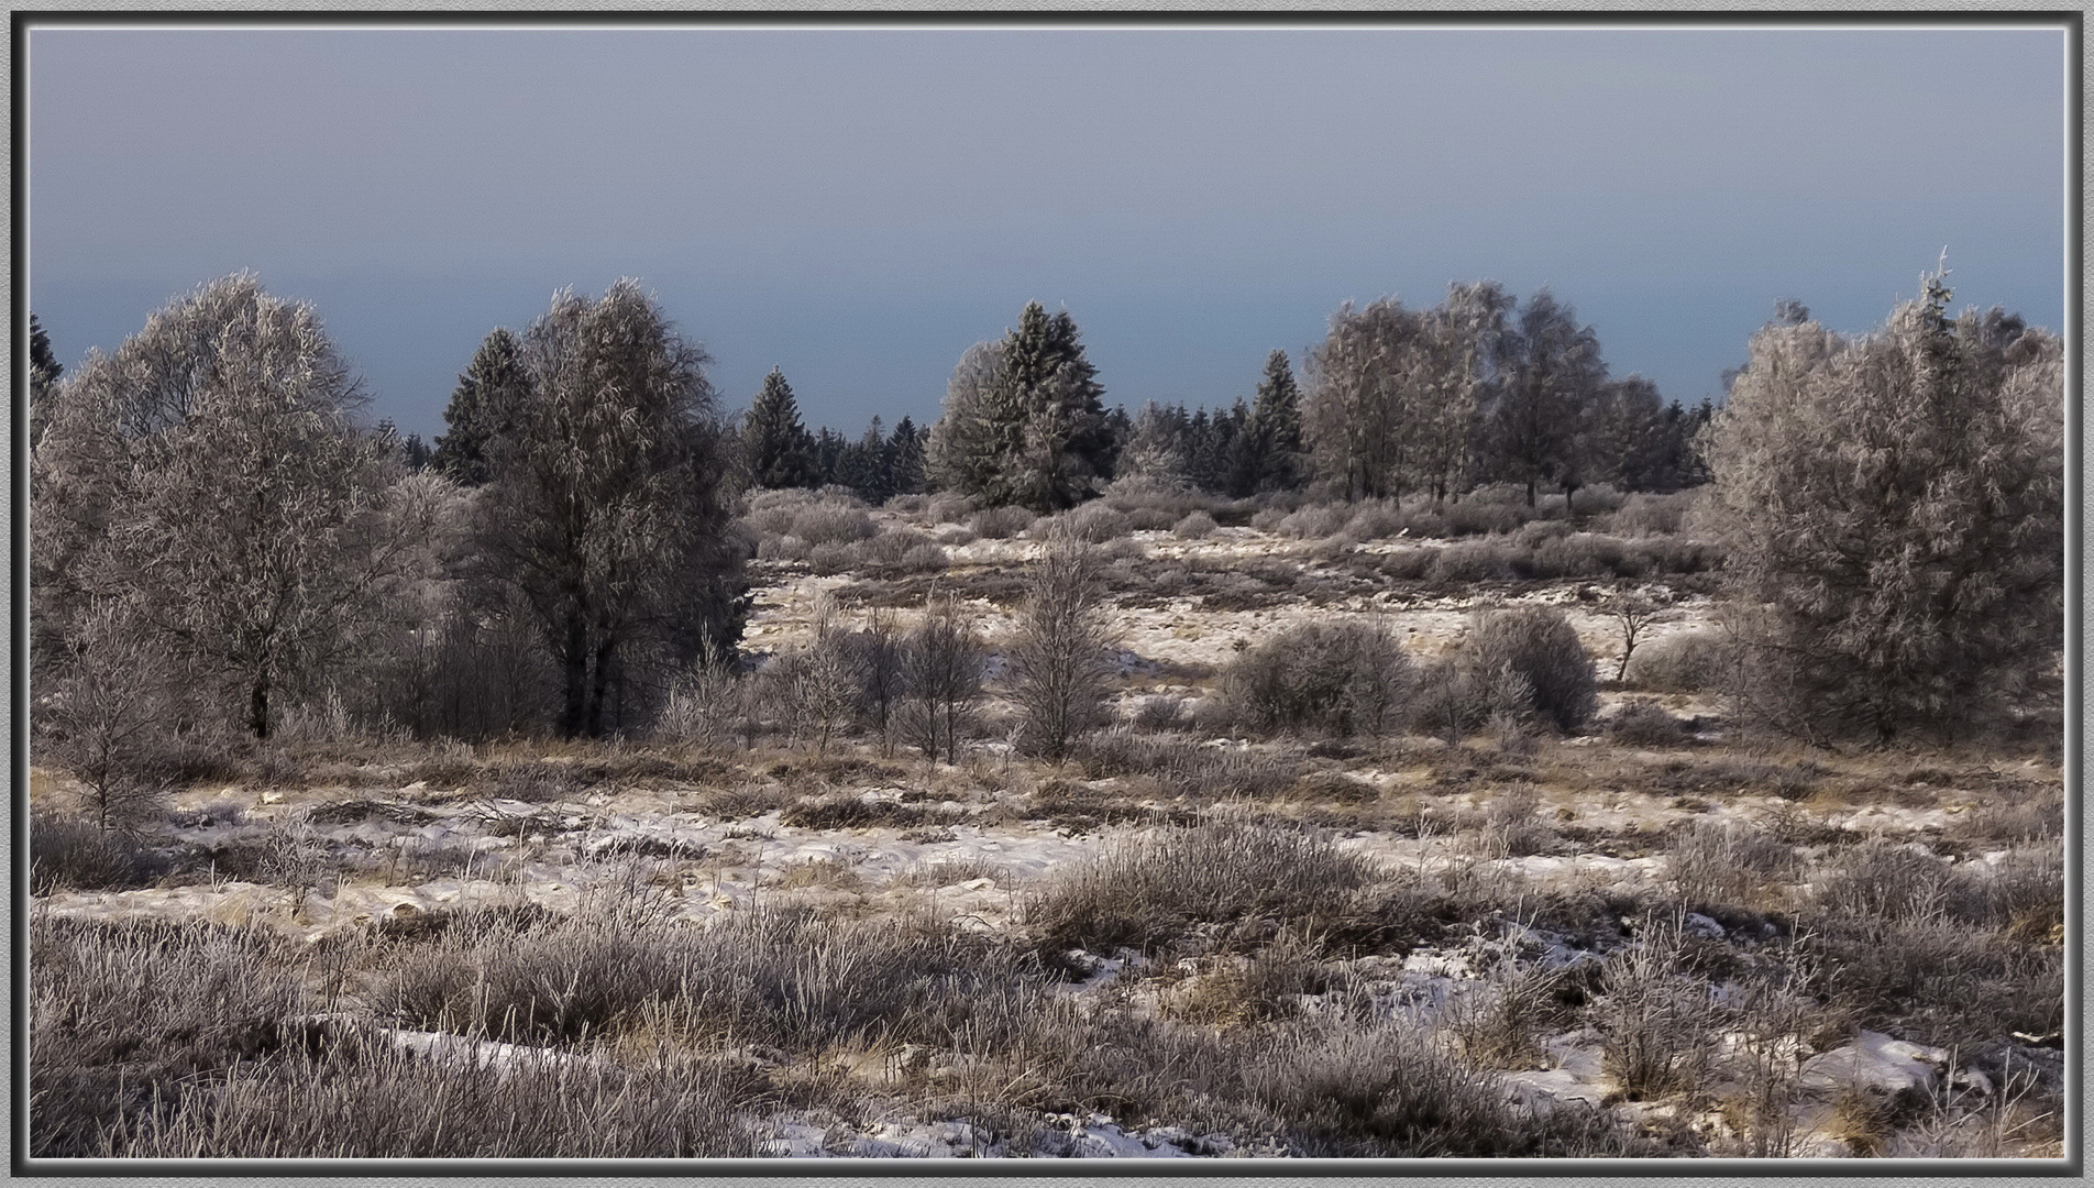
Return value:
<svg viewBox="0 0 2094 1188">
<path fill-rule="evenodd" d="M 1009 652 L 1026 750 L 1062 763 L 1104 721 L 1110 647 L 1097 549 L 1055 532 L 1026 576 L 1026 606 Z"/>
</svg>

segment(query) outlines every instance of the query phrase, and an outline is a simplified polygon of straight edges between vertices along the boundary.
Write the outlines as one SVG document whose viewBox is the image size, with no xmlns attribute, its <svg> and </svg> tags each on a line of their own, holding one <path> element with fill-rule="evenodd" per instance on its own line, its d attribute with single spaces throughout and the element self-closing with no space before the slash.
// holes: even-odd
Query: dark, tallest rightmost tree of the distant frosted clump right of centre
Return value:
<svg viewBox="0 0 2094 1188">
<path fill-rule="evenodd" d="M 1566 497 L 1585 484 L 1579 444 L 1604 381 L 1606 365 L 1591 327 L 1581 327 L 1577 312 L 1547 289 L 1529 298 L 1487 411 L 1493 469 L 1527 486 L 1529 507 L 1541 480 L 1560 482 Z"/>
</svg>

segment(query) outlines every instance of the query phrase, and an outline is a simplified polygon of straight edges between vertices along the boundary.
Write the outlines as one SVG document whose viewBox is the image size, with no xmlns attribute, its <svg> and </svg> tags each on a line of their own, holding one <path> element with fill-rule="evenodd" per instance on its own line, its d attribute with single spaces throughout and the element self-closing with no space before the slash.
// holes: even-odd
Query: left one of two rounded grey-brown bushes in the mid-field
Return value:
<svg viewBox="0 0 2094 1188">
<path fill-rule="evenodd" d="M 1338 735 L 1395 729 L 1411 698 L 1411 658 L 1378 622 L 1305 622 L 1244 652 L 1221 675 L 1221 700 L 1261 731 Z"/>
</svg>

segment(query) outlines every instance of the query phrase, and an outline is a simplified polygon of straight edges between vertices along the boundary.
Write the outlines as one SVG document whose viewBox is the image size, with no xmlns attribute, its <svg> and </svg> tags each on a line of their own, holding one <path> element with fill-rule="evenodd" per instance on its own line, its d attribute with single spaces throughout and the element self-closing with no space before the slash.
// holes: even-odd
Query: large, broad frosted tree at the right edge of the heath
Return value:
<svg viewBox="0 0 2094 1188">
<path fill-rule="evenodd" d="M 1947 302 L 1933 272 L 1859 337 L 1784 310 L 1715 415 L 1740 696 L 1780 729 L 1954 735 L 2056 664 L 2063 350 L 2000 310 L 1950 318 Z"/>
</svg>

